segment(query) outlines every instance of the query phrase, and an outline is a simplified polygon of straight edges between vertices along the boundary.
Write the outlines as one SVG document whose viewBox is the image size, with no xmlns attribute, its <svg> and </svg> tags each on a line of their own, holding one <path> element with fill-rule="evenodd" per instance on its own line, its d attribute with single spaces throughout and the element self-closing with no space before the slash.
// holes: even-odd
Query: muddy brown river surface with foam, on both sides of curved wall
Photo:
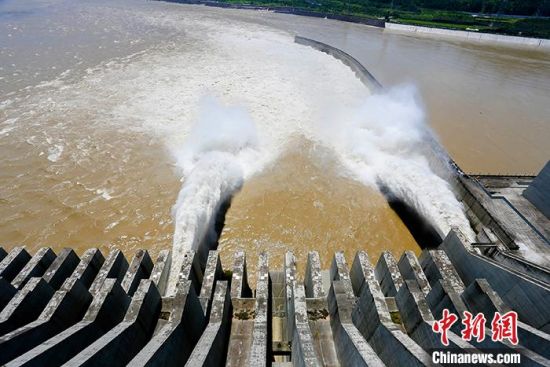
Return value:
<svg viewBox="0 0 550 367">
<path fill-rule="evenodd" d="M 373 100 L 295 34 L 350 53 L 394 92 Z M 227 116 L 238 129 L 218 131 Z M 302 264 L 316 249 L 325 266 L 338 250 L 348 261 L 359 249 L 374 261 L 385 249 L 418 253 L 375 181 L 387 178 L 447 228 L 460 207 L 437 204 L 445 184 L 422 171 L 423 134 L 431 127 L 467 172 L 535 174 L 550 157 L 548 116 L 541 51 L 265 11 L 3 0 L 0 242 L 156 256 L 172 247 L 178 208 L 201 204 L 175 206 L 189 177 L 208 171 L 225 185 L 215 170 L 235 173 L 200 172 L 215 150 L 235 154 L 240 179 L 219 240 L 226 267 L 238 248 L 250 265 L 268 251 L 275 266 L 287 250 Z M 204 201 L 219 191 L 199 186 L 192 196 Z"/>
</svg>

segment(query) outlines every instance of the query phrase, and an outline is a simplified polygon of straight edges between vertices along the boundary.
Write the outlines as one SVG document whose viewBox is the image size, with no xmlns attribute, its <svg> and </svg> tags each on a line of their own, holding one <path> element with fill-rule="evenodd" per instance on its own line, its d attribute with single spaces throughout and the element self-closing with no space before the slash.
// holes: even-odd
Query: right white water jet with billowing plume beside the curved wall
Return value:
<svg viewBox="0 0 550 367">
<path fill-rule="evenodd" d="M 331 113 L 315 136 L 333 148 L 352 178 L 371 186 L 383 185 L 413 207 L 444 238 L 453 227 L 470 240 L 475 234 L 462 204 L 444 179 L 436 156 L 441 151 L 410 86 L 390 89 L 366 99 L 363 105 Z"/>
</svg>

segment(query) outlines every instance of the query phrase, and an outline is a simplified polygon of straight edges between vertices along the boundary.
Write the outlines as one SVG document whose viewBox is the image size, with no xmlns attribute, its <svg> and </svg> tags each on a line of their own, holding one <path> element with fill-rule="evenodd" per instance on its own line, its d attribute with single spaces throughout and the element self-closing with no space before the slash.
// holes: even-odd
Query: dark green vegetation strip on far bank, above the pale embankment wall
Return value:
<svg viewBox="0 0 550 367">
<path fill-rule="evenodd" d="M 550 0 L 219 0 L 525 37 L 550 38 Z"/>
</svg>

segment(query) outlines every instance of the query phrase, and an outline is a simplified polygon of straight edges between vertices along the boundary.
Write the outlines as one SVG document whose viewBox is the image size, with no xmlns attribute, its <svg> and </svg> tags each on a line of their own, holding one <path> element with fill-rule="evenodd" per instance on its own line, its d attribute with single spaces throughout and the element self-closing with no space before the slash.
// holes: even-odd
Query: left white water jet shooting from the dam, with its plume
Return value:
<svg viewBox="0 0 550 367">
<path fill-rule="evenodd" d="M 175 230 L 168 294 L 177 284 L 183 254 L 216 241 L 215 221 L 220 207 L 265 162 L 256 128 L 246 111 L 205 98 L 199 116 L 185 143 L 173 150 L 184 181 L 173 208 Z"/>
</svg>

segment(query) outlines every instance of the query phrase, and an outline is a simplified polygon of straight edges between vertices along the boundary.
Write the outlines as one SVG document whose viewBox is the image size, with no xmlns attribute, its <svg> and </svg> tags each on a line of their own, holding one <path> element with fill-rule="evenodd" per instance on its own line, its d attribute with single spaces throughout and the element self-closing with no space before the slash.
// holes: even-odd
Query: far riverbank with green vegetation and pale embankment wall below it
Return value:
<svg viewBox="0 0 550 367">
<path fill-rule="evenodd" d="M 219 8 L 268 10 L 275 13 L 334 19 L 380 28 L 386 28 L 386 24 L 388 24 L 387 28 L 403 32 L 443 35 L 529 47 L 546 47 L 548 42 L 550 42 L 550 20 L 546 18 L 504 17 L 463 12 L 433 11 L 430 9 L 423 9 L 420 13 L 398 10 L 390 11 L 389 9 L 377 9 L 373 13 L 365 13 L 358 9 L 343 10 L 311 2 L 304 4 L 292 2 L 292 6 L 288 6 L 282 0 L 259 0 L 254 3 L 249 3 L 246 0 L 228 0 L 227 2 L 210 0 L 166 1 Z"/>
</svg>

